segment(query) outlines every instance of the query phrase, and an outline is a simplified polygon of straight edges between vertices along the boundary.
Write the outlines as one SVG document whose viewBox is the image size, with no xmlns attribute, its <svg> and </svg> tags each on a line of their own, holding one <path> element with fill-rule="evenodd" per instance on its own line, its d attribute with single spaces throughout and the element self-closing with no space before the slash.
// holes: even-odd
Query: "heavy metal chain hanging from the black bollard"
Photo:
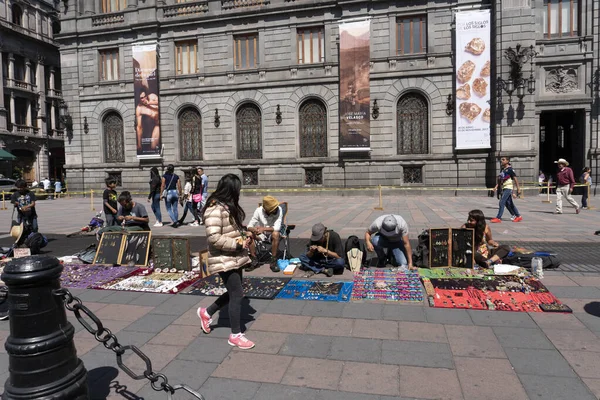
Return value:
<svg viewBox="0 0 600 400">
<path fill-rule="evenodd" d="M 176 390 L 182 390 L 188 392 L 197 399 L 205 400 L 204 396 L 202 396 L 200 393 L 196 392 L 187 385 L 170 385 L 169 379 L 166 377 L 166 375 L 156 373 L 152 370 L 152 361 L 150 360 L 150 358 L 148 358 L 146 354 L 144 354 L 143 351 L 141 351 L 133 345 L 121 345 L 115 334 L 112 333 L 110 329 L 105 328 L 102 324 L 102 321 L 100 321 L 96 314 L 94 314 L 89 308 L 83 305 L 81 299 L 73 296 L 71 292 L 69 292 L 69 290 L 60 288 L 54 290 L 53 294 L 57 297 L 62 298 L 65 304 L 65 308 L 69 311 L 72 311 L 75 314 L 75 318 L 77 318 L 77 321 L 79 321 L 79 323 L 85 328 L 86 331 L 91 333 L 98 342 L 104 345 L 104 347 L 106 347 L 108 350 L 112 350 L 117 355 L 117 365 L 132 379 L 149 380 L 152 389 L 156 390 L 157 392 L 166 392 L 168 394 L 168 399 L 173 398 L 172 396 Z M 2 294 L 0 293 L 0 303 L 1 297 Z M 91 321 L 91 323 L 88 322 L 88 319 L 89 321 Z M 127 351 L 131 351 L 144 362 L 146 369 L 144 370 L 144 372 L 142 372 L 141 375 L 136 375 L 135 372 L 133 372 L 128 366 L 125 365 L 125 363 L 123 363 L 123 355 L 127 353 Z"/>
</svg>

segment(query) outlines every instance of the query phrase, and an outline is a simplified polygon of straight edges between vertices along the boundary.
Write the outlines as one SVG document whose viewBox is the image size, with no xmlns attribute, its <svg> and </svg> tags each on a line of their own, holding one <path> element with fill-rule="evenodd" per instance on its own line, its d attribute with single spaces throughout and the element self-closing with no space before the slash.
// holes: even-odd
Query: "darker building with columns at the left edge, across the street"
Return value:
<svg viewBox="0 0 600 400">
<path fill-rule="evenodd" d="M 17 157 L 0 162 L 7 177 L 62 179 L 58 27 L 53 3 L 0 0 L 0 145 Z"/>
</svg>

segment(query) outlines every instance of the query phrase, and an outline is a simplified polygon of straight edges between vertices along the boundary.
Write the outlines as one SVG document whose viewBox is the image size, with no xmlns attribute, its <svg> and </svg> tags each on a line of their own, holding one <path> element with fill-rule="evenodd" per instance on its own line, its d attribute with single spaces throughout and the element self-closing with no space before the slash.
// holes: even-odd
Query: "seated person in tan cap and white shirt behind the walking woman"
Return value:
<svg viewBox="0 0 600 400">
<path fill-rule="evenodd" d="M 273 196 L 263 197 L 262 206 L 259 206 L 254 211 L 252 219 L 248 223 L 248 231 L 252 233 L 254 240 L 271 243 L 271 261 L 269 266 L 273 272 L 280 271 L 277 266 L 277 252 L 279 250 L 279 240 L 281 239 L 280 231 L 282 223 L 283 212 L 281 207 L 279 207 L 279 201 Z M 254 242 L 250 246 L 250 254 L 254 259 L 257 258 Z"/>
</svg>

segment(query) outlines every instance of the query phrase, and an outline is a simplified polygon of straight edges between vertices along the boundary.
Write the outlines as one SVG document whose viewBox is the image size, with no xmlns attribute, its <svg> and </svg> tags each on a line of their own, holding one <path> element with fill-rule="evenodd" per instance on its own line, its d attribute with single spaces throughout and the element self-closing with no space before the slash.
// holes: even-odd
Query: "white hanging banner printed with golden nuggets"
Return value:
<svg viewBox="0 0 600 400">
<path fill-rule="evenodd" d="M 490 11 L 456 13 L 456 149 L 490 148 Z"/>
</svg>

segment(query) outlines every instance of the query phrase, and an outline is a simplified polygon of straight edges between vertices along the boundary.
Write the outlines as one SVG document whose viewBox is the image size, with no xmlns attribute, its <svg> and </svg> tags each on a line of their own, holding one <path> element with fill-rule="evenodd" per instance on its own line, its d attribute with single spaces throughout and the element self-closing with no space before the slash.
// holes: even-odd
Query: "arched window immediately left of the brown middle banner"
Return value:
<svg viewBox="0 0 600 400">
<path fill-rule="evenodd" d="M 300 106 L 300 157 L 327 157 L 327 109 L 319 100 Z"/>
</svg>

